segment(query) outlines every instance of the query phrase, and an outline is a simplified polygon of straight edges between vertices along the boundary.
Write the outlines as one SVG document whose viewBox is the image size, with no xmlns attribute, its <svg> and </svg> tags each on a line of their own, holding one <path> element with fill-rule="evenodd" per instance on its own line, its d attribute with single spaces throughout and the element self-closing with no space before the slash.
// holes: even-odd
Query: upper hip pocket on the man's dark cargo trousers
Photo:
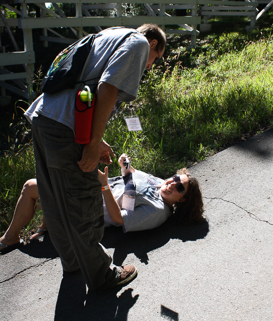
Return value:
<svg viewBox="0 0 273 321">
<path fill-rule="evenodd" d="M 57 138 L 43 133 L 47 168 L 69 173 L 76 172 L 76 148 L 74 138 Z"/>
</svg>

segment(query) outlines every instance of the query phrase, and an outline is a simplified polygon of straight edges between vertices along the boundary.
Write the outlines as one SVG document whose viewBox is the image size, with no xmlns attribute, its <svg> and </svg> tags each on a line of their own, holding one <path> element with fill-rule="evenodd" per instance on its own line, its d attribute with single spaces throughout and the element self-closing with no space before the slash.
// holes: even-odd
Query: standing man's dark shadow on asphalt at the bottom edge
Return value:
<svg viewBox="0 0 273 321">
<path fill-rule="evenodd" d="M 117 287 L 104 292 L 88 291 L 86 294 L 86 285 L 80 270 L 64 272 L 54 321 L 127 320 L 128 312 L 136 303 L 138 295 L 133 297 L 133 289 L 129 288 L 118 297 L 120 290 L 121 287 Z"/>
</svg>

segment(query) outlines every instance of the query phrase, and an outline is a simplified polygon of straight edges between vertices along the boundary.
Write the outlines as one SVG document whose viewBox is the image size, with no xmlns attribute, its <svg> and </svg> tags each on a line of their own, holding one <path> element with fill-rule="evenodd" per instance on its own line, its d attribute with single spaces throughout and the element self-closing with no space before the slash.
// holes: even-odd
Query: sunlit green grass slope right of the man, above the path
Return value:
<svg viewBox="0 0 273 321">
<path fill-rule="evenodd" d="M 105 138 L 118 155 L 131 155 L 136 168 L 170 176 L 272 124 L 272 63 L 270 37 L 196 68 L 153 68 L 136 108 L 111 121 Z M 127 132 L 123 117 L 131 112 L 139 115 L 142 132 Z"/>
</svg>

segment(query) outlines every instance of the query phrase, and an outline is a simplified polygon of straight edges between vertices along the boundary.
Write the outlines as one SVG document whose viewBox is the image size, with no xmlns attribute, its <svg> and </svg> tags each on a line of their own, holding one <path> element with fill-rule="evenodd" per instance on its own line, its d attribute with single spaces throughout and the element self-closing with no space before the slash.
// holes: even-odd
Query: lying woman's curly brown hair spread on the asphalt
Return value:
<svg viewBox="0 0 273 321">
<path fill-rule="evenodd" d="M 204 204 L 198 180 L 186 168 L 177 171 L 179 175 L 187 175 L 189 179 L 185 201 L 174 205 L 174 217 L 178 223 L 191 224 L 205 221 Z"/>
</svg>

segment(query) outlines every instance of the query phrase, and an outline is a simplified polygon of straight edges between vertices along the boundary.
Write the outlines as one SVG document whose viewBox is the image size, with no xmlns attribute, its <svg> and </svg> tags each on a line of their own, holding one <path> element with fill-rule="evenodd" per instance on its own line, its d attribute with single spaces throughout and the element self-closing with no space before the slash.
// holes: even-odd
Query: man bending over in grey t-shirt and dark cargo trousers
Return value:
<svg viewBox="0 0 273 321">
<path fill-rule="evenodd" d="M 153 24 L 96 34 L 79 76 L 91 92 L 96 90 L 85 145 L 76 143 L 74 135 L 75 95 L 82 85 L 43 94 L 25 112 L 32 122 L 37 185 L 50 237 L 64 271 L 80 268 L 92 291 L 125 284 L 136 275 L 132 265 L 115 266 L 99 243 L 104 215 L 97 166 L 99 161 L 111 164 L 110 155 L 115 156 L 102 136 L 116 101 L 136 99 L 144 68 L 162 57 L 165 44 L 164 32 Z"/>
</svg>

